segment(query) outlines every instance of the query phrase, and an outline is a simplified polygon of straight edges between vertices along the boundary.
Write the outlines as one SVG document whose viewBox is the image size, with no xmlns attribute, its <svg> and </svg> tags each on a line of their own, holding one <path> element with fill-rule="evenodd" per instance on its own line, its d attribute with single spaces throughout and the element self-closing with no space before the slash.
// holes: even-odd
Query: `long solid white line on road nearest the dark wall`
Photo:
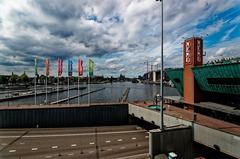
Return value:
<svg viewBox="0 0 240 159">
<path fill-rule="evenodd" d="M 140 133 L 146 132 L 146 130 L 130 130 L 130 131 L 116 131 L 116 132 L 98 132 L 98 135 L 111 135 L 111 134 L 128 134 L 128 133 Z M 88 136 L 95 135 L 95 133 L 77 133 L 77 134 L 46 134 L 46 135 L 26 135 L 22 138 L 39 138 L 39 137 L 65 137 L 65 136 Z M 0 136 L 0 139 L 5 138 L 18 138 L 20 136 Z"/>
</svg>

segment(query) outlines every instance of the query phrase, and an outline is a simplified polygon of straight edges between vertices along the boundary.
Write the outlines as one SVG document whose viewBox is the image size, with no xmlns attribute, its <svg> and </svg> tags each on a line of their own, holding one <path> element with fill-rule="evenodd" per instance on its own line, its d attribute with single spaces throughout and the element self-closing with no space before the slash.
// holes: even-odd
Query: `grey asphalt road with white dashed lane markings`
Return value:
<svg viewBox="0 0 240 159">
<path fill-rule="evenodd" d="M 148 133 L 136 125 L 0 129 L 0 159 L 146 159 Z"/>
</svg>

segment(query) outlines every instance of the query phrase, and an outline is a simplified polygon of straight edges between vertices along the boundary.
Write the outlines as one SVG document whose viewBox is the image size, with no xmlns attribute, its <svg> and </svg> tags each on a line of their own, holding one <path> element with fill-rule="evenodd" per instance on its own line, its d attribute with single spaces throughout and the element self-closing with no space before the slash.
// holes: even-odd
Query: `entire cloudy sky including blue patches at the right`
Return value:
<svg viewBox="0 0 240 159">
<path fill-rule="evenodd" d="M 141 75 L 160 61 L 160 16 L 155 0 L 0 0 L 0 73 L 33 75 L 37 57 L 44 74 L 48 57 L 56 75 L 58 57 L 80 57 L 84 75 L 88 58 L 97 75 Z M 239 24 L 240 0 L 165 0 L 164 65 L 182 67 L 191 36 L 204 37 L 205 62 L 240 56 Z"/>
</svg>

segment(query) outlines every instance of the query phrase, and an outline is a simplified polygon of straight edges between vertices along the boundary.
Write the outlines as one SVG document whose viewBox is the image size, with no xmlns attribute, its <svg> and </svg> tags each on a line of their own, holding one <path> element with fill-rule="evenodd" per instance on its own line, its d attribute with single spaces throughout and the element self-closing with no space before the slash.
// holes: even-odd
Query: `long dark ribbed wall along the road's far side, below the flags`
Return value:
<svg viewBox="0 0 240 159">
<path fill-rule="evenodd" d="M 128 123 L 127 104 L 0 110 L 0 128 L 70 127 Z"/>
</svg>

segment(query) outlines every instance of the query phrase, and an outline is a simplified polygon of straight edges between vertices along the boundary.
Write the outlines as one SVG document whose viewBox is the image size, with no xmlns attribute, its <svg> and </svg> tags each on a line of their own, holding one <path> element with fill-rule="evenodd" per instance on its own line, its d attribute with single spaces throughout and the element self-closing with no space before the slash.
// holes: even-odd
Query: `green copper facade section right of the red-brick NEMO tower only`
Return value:
<svg viewBox="0 0 240 159">
<path fill-rule="evenodd" d="M 240 95 L 240 63 L 205 65 L 192 70 L 201 90 Z"/>
</svg>

